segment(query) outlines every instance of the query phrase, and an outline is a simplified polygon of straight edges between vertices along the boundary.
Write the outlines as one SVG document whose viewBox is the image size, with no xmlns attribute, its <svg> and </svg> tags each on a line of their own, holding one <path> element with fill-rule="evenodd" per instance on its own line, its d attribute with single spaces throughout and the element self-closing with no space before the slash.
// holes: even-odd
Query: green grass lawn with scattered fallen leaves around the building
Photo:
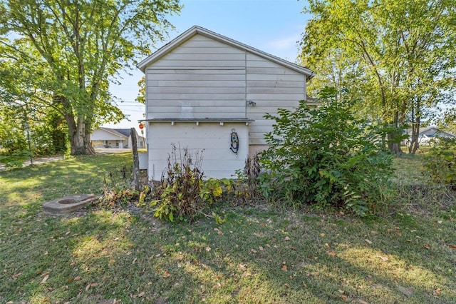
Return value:
<svg viewBox="0 0 456 304">
<path fill-rule="evenodd" d="M 101 194 L 131 154 L 0 172 L 0 303 L 456 303 L 455 193 L 398 158 L 398 198 L 375 218 L 239 208 L 164 223 L 95 206 L 48 216 L 44 202 Z"/>
</svg>

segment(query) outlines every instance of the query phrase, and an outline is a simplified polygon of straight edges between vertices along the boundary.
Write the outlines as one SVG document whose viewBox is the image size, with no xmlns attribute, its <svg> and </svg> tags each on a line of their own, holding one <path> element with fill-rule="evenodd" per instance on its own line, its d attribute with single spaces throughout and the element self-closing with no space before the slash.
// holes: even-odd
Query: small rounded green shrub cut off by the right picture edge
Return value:
<svg viewBox="0 0 456 304">
<path fill-rule="evenodd" d="M 435 183 L 452 185 L 456 189 L 456 141 L 440 138 L 438 142 L 425 155 L 423 173 Z"/>
</svg>

